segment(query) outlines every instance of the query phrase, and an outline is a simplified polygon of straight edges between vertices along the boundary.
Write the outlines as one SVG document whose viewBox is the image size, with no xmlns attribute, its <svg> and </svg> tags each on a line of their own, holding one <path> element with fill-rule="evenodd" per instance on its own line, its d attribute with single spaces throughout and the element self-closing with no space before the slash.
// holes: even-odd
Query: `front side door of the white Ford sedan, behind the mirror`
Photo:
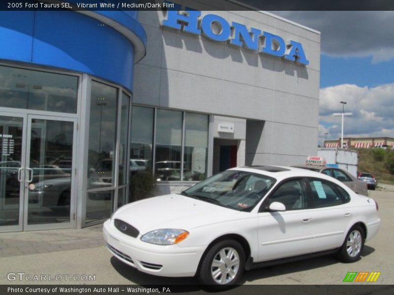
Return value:
<svg viewBox="0 0 394 295">
<path fill-rule="evenodd" d="M 270 212 L 273 202 L 281 202 L 286 211 Z M 263 201 L 259 210 L 259 261 L 310 253 L 313 249 L 311 215 L 303 178 L 289 179 Z"/>
</svg>

